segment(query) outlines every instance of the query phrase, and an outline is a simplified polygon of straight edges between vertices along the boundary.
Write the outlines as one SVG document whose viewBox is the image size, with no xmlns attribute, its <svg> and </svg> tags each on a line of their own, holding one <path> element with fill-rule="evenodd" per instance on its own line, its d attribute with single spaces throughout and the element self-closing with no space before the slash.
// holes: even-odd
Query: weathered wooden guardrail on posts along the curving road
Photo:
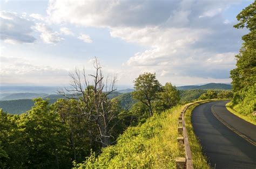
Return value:
<svg viewBox="0 0 256 169">
<path fill-rule="evenodd" d="M 183 134 L 183 137 L 178 137 L 177 142 L 178 142 L 178 146 L 183 147 L 184 145 L 186 157 L 176 158 L 176 168 L 189 168 L 189 169 L 194 168 L 193 160 L 192 160 L 192 152 L 190 149 L 190 143 L 188 142 L 188 135 L 187 135 L 187 129 L 186 129 L 185 117 L 184 117 L 184 114 L 187 108 L 192 104 L 186 105 L 183 111 L 181 111 L 180 116 L 178 118 L 178 133 Z"/>
</svg>

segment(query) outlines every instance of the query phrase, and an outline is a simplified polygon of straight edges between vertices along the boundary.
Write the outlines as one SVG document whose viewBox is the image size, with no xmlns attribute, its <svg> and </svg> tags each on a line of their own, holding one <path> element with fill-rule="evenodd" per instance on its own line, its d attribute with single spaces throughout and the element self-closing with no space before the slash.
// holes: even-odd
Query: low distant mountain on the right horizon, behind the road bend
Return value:
<svg viewBox="0 0 256 169">
<path fill-rule="evenodd" d="M 231 85 L 224 83 L 208 83 L 206 85 L 201 86 L 178 86 L 178 90 L 206 90 L 206 89 L 222 89 L 222 90 L 230 90 Z"/>
</svg>

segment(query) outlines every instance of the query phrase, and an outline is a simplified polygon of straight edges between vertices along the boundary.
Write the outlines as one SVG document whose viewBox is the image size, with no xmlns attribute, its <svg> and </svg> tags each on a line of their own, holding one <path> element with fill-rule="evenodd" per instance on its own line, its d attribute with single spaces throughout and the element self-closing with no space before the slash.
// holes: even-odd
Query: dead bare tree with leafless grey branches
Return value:
<svg viewBox="0 0 256 169">
<path fill-rule="evenodd" d="M 96 123 L 99 131 L 97 140 L 106 147 L 111 144 L 111 132 L 117 124 L 114 122 L 118 116 L 118 112 L 114 111 L 115 103 L 108 98 L 116 90 L 116 76 L 111 80 L 108 77 L 104 80 L 102 67 L 97 58 L 94 61 L 94 68 L 95 74 L 86 75 L 85 69 L 76 69 L 70 73 L 70 88 L 65 88 L 59 93 L 68 98 L 74 96 L 72 98 L 77 98 L 83 103 L 80 104 L 82 113 L 79 117 Z M 88 80 L 89 78 L 92 80 Z"/>
</svg>

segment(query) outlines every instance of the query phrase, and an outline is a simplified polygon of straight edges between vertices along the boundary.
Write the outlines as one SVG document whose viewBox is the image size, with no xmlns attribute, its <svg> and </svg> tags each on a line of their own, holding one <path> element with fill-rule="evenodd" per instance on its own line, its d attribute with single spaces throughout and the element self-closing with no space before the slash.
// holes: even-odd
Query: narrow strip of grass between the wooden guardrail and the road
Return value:
<svg viewBox="0 0 256 169">
<path fill-rule="evenodd" d="M 211 168 L 210 165 L 207 163 L 207 158 L 203 154 L 202 147 L 199 143 L 197 136 L 194 133 L 193 126 L 191 123 L 191 115 L 192 115 L 193 109 L 196 108 L 198 105 L 206 102 L 209 102 L 209 101 L 194 103 L 190 105 L 190 107 L 188 107 L 185 112 L 185 124 L 186 124 L 186 129 L 188 134 L 188 140 L 190 142 L 190 149 L 192 152 L 194 168 Z"/>
</svg>

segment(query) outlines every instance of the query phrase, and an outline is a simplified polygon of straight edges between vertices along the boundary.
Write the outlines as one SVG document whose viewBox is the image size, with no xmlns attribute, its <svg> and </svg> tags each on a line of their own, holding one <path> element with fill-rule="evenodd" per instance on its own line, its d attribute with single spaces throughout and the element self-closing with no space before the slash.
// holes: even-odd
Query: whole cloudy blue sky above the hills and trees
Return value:
<svg viewBox="0 0 256 169">
<path fill-rule="evenodd" d="M 164 85 L 230 83 L 253 1 L 0 1 L 2 86 L 65 86 L 97 57 L 117 86 L 144 72 Z"/>
</svg>

